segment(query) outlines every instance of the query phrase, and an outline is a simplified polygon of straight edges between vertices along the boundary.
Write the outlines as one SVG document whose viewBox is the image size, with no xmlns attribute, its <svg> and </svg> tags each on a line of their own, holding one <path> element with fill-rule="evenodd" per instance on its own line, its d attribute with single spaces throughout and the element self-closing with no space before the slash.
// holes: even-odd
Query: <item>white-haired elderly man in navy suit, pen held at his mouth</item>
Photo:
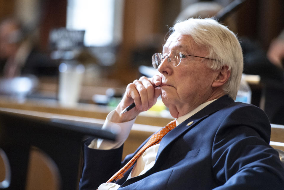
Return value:
<svg viewBox="0 0 284 190">
<path fill-rule="evenodd" d="M 170 32 L 152 57 L 161 74 L 129 84 L 107 116 L 103 127 L 119 126 L 118 140 L 86 141 L 80 189 L 284 189 L 267 116 L 233 100 L 243 69 L 234 33 L 212 19 L 189 19 Z M 121 162 L 136 116 L 159 95 L 176 119 Z"/>
</svg>

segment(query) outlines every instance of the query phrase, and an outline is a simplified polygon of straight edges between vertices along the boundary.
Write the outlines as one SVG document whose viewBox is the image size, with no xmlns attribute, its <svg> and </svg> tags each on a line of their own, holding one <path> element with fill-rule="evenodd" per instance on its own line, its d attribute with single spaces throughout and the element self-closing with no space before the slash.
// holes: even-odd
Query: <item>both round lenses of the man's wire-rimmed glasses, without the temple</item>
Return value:
<svg viewBox="0 0 284 190">
<path fill-rule="evenodd" d="M 178 50 L 172 50 L 168 55 L 163 56 L 161 53 L 154 53 L 152 56 L 152 64 L 155 69 L 158 69 L 159 65 L 163 62 L 164 59 L 168 58 L 168 62 L 171 63 L 174 67 L 178 66 L 181 60 Z"/>
</svg>

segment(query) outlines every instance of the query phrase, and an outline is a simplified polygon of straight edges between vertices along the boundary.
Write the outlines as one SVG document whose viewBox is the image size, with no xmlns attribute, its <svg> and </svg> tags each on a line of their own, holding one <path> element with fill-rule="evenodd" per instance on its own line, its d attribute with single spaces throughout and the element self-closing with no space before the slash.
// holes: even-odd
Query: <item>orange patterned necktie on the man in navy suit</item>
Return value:
<svg viewBox="0 0 284 190">
<path fill-rule="evenodd" d="M 165 136 L 174 127 L 176 127 L 176 120 L 169 122 L 169 124 L 163 127 L 159 132 L 152 135 L 147 143 L 134 155 L 134 157 L 125 166 L 123 166 L 123 168 L 116 172 L 106 183 L 123 178 L 123 174 L 134 164 L 137 158 L 150 146 L 160 143 L 163 136 Z"/>
</svg>

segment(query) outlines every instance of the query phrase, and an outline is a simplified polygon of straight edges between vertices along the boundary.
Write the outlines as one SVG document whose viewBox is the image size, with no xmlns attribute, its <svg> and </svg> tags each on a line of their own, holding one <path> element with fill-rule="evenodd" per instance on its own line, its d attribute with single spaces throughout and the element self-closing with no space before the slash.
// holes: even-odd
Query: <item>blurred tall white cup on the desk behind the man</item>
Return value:
<svg viewBox="0 0 284 190">
<path fill-rule="evenodd" d="M 78 103 L 85 67 L 76 61 L 59 65 L 58 100 L 61 106 L 74 107 Z"/>
</svg>

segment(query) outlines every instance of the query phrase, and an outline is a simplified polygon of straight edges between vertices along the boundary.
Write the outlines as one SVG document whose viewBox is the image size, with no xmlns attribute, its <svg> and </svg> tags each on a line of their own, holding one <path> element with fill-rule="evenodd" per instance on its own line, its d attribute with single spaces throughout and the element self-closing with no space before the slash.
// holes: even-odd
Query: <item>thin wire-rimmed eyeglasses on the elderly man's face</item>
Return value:
<svg viewBox="0 0 284 190">
<path fill-rule="evenodd" d="M 166 57 L 168 57 L 168 62 L 172 66 L 176 67 L 180 64 L 182 59 L 187 58 L 187 56 L 204 58 L 204 57 L 200 57 L 196 55 L 186 55 L 186 54 L 179 52 L 178 50 L 171 50 L 168 53 L 168 55 L 163 55 L 161 53 L 154 53 L 152 56 L 152 64 L 155 69 L 158 69 L 159 65 L 163 62 L 163 60 L 166 59 Z M 211 58 L 204 58 L 204 59 L 211 59 Z M 215 60 L 215 59 L 211 59 L 211 60 Z"/>
</svg>

